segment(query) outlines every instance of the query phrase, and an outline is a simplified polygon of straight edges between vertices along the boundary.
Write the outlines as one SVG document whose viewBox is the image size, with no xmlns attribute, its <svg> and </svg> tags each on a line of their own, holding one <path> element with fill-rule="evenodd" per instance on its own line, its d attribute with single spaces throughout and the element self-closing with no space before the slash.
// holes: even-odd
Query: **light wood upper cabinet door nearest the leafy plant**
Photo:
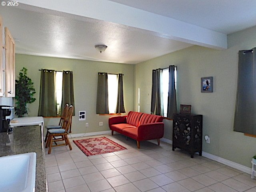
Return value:
<svg viewBox="0 0 256 192">
<path fill-rule="evenodd" d="M 5 27 L 5 84 L 6 97 L 15 97 L 15 42 Z"/>
</svg>

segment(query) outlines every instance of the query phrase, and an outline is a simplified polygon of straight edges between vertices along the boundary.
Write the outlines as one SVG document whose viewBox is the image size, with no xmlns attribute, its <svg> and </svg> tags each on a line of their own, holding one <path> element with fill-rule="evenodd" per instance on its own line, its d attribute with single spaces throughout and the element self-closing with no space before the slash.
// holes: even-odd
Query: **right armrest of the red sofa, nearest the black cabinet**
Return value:
<svg viewBox="0 0 256 192">
<path fill-rule="evenodd" d="M 164 123 L 148 123 L 138 126 L 138 141 L 159 139 L 164 136 Z"/>
</svg>

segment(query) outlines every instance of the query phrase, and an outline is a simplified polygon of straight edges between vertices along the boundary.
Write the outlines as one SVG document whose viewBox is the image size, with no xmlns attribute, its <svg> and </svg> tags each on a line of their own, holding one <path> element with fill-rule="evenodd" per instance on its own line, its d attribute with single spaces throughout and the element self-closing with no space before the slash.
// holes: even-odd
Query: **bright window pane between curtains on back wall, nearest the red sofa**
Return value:
<svg viewBox="0 0 256 192">
<path fill-rule="evenodd" d="M 116 112 L 118 92 L 118 75 L 108 74 L 108 110 L 109 113 Z"/>
</svg>

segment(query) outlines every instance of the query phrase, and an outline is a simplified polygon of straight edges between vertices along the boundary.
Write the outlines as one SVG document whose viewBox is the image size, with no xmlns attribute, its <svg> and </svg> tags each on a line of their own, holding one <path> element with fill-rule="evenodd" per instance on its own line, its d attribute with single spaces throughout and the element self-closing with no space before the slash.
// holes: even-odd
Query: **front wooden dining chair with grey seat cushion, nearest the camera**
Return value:
<svg viewBox="0 0 256 192">
<path fill-rule="evenodd" d="M 49 147 L 48 154 L 51 153 L 52 147 L 56 147 L 56 146 L 68 145 L 69 149 L 72 150 L 71 144 L 68 140 L 68 133 L 69 133 L 69 129 L 70 129 L 70 124 L 72 122 L 73 110 L 74 110 L 74 107 L 71 105 L 68 108 L 66 118 L 64 118 L 62 128 L 48 130 L 49 135 L 48 135 L 46 147 L 45 147 L 45 148 Z M 57 136 L 61 136 L 61 138 L 56 138 Z M 65 143 L 57 144 L 56 142 L 59 142 L 59 141 L 65 141 Z M 56 145 L 52 145 L 53 142 L 55 142 Z"/>
</svg>

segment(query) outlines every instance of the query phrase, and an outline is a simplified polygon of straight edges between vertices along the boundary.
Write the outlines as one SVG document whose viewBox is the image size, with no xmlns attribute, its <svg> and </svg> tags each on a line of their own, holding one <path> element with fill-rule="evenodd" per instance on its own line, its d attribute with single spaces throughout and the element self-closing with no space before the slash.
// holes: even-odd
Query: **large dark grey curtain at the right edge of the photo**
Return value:
<svg viewBox="0 0 256 192">
<path fill-rule="evenodd" d="M 234 131 L 256 135 L 256 48 L 238 52 Z"/>
</svg>

